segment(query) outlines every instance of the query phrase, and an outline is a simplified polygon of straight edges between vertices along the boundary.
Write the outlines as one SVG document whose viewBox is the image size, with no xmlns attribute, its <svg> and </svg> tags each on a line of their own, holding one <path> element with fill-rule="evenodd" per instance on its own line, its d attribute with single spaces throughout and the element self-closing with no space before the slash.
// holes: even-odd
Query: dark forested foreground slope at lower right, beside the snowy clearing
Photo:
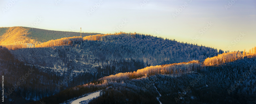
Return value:
<svg viewBox="0 0 256 104">
<path fill-rule="evenodd" d="M 217 66 L 203 66 L 200 67 L 201 70 L 195 71 L 197 73 L 184 73 L 182 76 L 175 77 L 161 70 L 194 66 L 193 64 L 198 61 L 151 66 L 141 69 L 147 72 L 147 75 L 142 77 L 136 77 L 136 73 L 140 70 L 133 72 L 135 76 L 133 73 L 110 75 L 41 100 L 49 103 L 69 103 L 69 99 L 74 97 L 88 94 L 90 91 L 102 90 L 100 96 L 92 99 L 90 103 L 159 103 L 161 101 L 162 103 L 251 104 L 256 102 L 255 60 L 256 56 L 253 55 L 251 58 L 244 57 Z M 148 74 L 150 70 L 155 73 Z M 72 96 L 65 95 L 67 93 Z M 237 98 L 237 96 L 240 97 Z M 33 103 L 37 102 L 39 101 Z"/>
</svg>

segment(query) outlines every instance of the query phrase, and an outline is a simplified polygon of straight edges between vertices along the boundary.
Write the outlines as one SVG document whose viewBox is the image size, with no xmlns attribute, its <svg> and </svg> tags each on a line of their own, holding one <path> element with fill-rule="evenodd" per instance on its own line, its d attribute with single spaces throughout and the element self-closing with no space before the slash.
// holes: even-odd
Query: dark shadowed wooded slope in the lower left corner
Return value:
<svg viewBox="0 0 256 104">
<path fill-rule="evenodd" d="M 34 66 L 25 65 L 2 46 L 0 46 L 0 56 L 0 74 L 4 75 L 6 104 L 28 103 L 41 99 L 40 96 L 48 96 L 48 94 L 58 92 L 58 89 L 55 91 L 47 89 L 58 88 L 56 84 L 52 84 L 52 79 L 55 80 L 55 83 L 60 83 L 58 80 L 63 79 L 64 76 L 57 76 L 50 71 L 45 73 Z M 28 93 L 39 93 L 40 96 L 39 94 L 35 96 Z"/>
</svg>

